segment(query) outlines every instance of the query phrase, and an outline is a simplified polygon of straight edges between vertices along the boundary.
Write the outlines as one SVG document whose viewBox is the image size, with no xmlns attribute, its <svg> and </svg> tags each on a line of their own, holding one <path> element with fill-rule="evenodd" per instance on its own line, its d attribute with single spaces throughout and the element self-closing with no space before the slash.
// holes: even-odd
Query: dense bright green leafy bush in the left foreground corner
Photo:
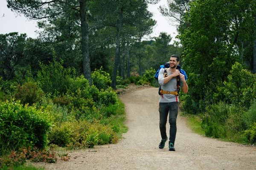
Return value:
<svg viewBox="0 0 256 170">
<path fill-rule="evenodd" d="M 0 102 L 1 152 L 6 153 L 23 146 L 44 148 L 51 127 L 46 114 L 19 102 Z"/>
</svg>

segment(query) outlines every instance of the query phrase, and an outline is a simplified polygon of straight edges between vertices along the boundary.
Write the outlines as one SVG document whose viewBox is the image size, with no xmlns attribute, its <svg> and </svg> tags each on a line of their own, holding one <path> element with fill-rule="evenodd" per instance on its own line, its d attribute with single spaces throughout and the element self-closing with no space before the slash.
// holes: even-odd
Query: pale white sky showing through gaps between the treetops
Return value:
<svg viewBox="0 0 256 170">
<path fill-rule="evenodd" d="M 176 27 L 168 18 L 163 17 L 157 9 L 160 5 L 167 6 L 167 0 L 160 0 L 159 3 L 149 5 L 148 10 L 153 13 L 153 19 L 157 21 L 154 26 L 153 33 L 148 37 L 158 37 L 160 32 L 171 34 L 172 41 L 177 35 Z M 36 38 L 38 34 L 35 33 L 37 28 L 36 20 L 28 20 L 24 16 L 19 16 L 7 8 L 6 0 L 0 0 L 0 34 L 8 34 L 10 32 L 18 32 L 19 34 L 27 34 L 27 37 Z"/>
</svg>

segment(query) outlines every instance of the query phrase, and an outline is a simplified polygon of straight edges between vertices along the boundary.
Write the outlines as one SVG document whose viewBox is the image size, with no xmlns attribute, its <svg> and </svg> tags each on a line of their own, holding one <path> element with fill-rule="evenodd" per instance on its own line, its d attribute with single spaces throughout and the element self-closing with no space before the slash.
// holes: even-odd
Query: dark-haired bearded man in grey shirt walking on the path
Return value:
<svg viewBox="0 0 256 170">
<path fill-rule="evenodd" d="M 177 89 L 181 87 L 184 93 L 188 92 L 188 85 L 186 84 L 185 76 L 176 70 L 177 65 L 180 63 L 177 55 L 170 57 L 170 68 L 161 68 L 158 76 L 158 82 L 161 85 L 160 100 L 159 100 L 159 114 L 160 114 L 160 133 L 162 140 L 159 148 L 163 149 L 168 137 L 166 135 L 166 122 L 169 113 L 170 124 L 170 138 L 169 150 L 175 151 L 174 143 L 177 132 L 176 119 L 178 114 L 179 96 Z M 165 71 L 166 69 L 166 71 Z"/>
</svg>

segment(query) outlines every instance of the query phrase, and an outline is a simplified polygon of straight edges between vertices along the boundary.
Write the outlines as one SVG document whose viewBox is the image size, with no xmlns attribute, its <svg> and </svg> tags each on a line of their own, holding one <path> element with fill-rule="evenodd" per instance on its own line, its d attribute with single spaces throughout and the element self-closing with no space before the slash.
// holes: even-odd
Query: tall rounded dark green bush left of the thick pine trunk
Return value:
<svg viewBox="0 0 256 170">
<path fill-rule="evenodd" d="M 70 78 L 75 77 L 76 71 L 71 68 L 64 68 L 63 62 L 49 62 L 49 65 L 40 64 L 41 71 L 38 71 L 37 83 L 44 91 L 54 96 L 67 93 Z"/>
</svg>

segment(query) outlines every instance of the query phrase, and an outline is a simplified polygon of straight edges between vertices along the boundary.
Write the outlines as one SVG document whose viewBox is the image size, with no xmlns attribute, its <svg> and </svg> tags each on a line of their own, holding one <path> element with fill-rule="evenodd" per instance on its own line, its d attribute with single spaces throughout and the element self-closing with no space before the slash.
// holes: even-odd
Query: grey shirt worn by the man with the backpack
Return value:
<svg viewBox="0 0 256 170">
<path fill-rule="evenodd" d="M 177 79 L 172 78 L 169 82 L 166 84 L 163 84 L 163 73 L 164 68 L 161 68 L 158 75 L 158 83 L 161 85 L 161 88 L 164 91 L 177 91 Z M 167 69 L 167 75 L 171 75 L 172 73 L 169 72 L 169 69 Z M 180 79 L 180 88 L 183 87 L 183 81 Z M 173 94 L 161 94 L 160 95 L 160 103 L 169 103 L 169 102 L 179 102 L 179 96 L 175 96 Z"/>
</svg>

